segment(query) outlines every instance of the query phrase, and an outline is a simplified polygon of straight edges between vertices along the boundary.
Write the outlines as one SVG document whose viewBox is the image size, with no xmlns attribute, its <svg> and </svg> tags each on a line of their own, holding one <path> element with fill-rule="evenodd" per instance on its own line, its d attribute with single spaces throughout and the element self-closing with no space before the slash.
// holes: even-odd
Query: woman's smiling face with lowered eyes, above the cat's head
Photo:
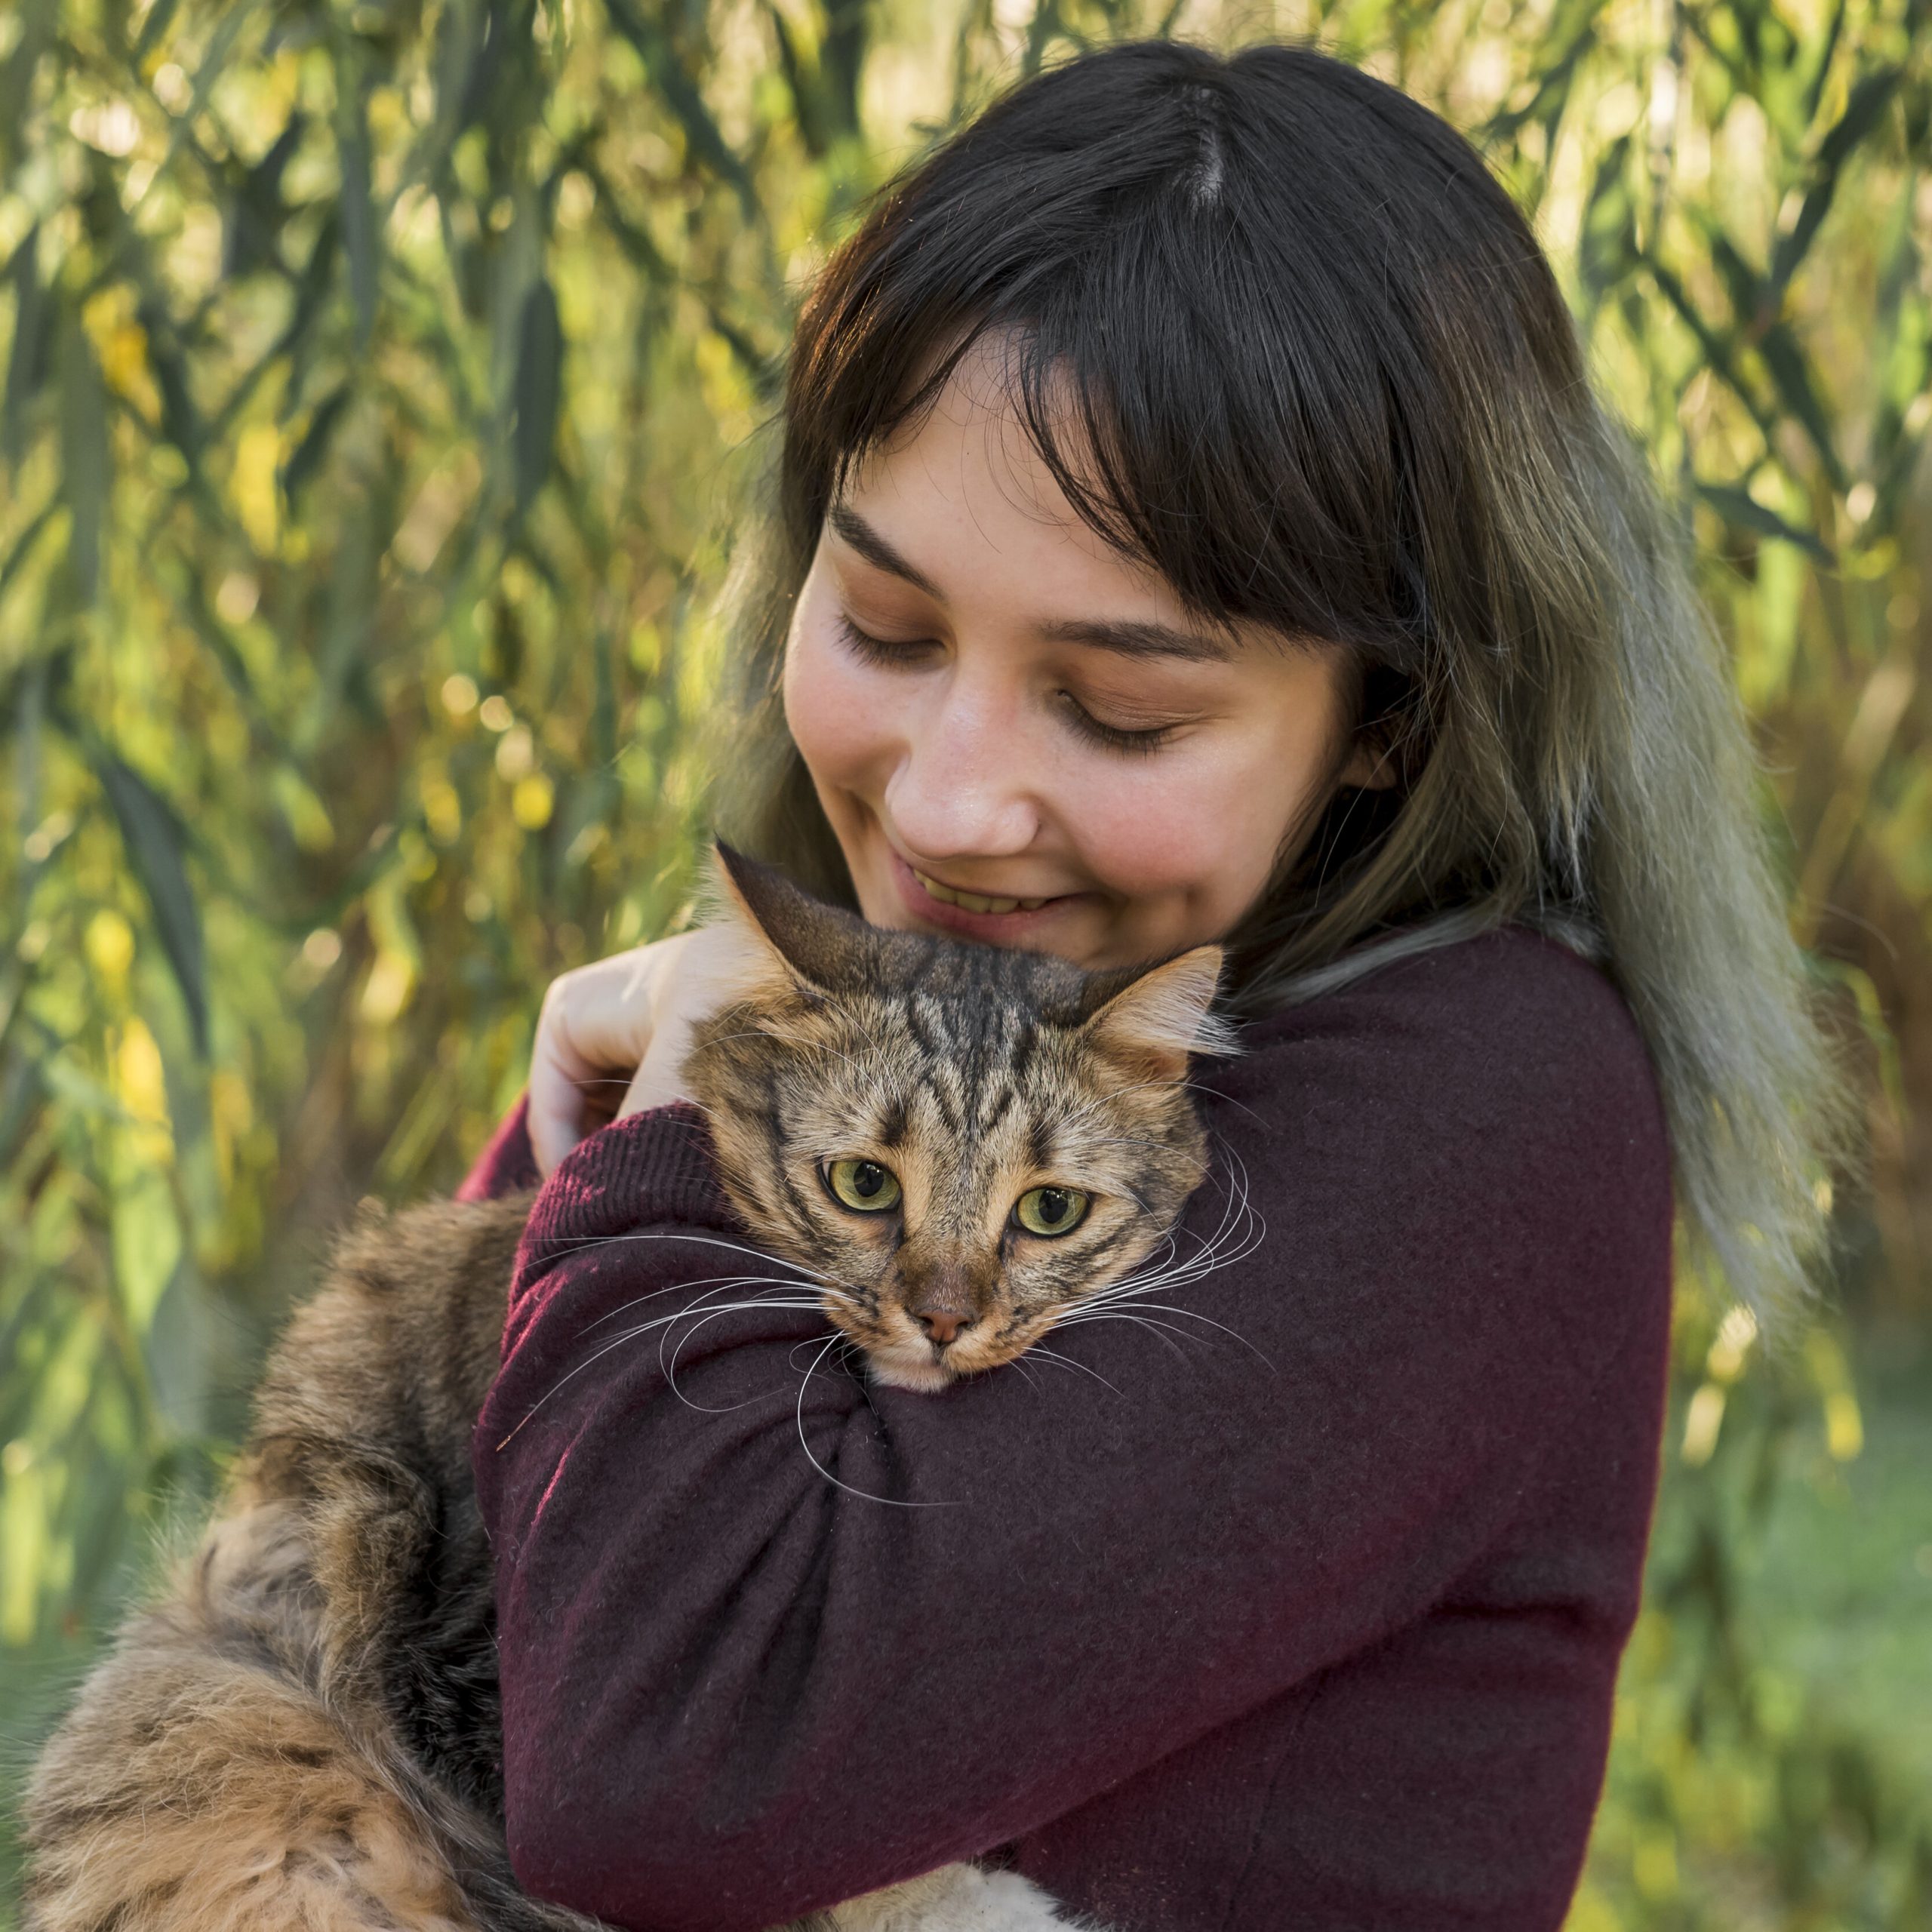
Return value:
<svg viewBox="0 0 1932 1932">
<path fill-rule="evenodd" d="M 976 350 L 833 506 L 784 715 L 875 925 L 1130 966 L 1229 933 L 1339 784 L 1333 649 L 1229 641 L 1068 506 Z"/>
</svg>

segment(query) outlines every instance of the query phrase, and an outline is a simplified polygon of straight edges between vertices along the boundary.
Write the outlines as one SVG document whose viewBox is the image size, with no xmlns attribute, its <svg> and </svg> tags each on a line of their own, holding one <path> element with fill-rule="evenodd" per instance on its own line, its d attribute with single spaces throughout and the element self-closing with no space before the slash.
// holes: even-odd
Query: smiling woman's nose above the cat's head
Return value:
<svg viewBox="0 0 1932 1932">
<path fill-rule="evenodd" d="M 898 835 L 931 860 L 1024 852 L 1039 831 L 1037 761 L 1018 705 L 954 686 L 916 721 L 885 788 Z"/>
</svg>

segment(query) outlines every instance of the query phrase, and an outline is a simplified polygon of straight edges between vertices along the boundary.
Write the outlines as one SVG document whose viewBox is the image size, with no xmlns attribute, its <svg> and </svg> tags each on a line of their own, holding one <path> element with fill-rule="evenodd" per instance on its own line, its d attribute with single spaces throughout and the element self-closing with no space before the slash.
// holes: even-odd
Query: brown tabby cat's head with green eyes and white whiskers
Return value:
<svg viewBox="0 0 1932 1932">
<path fill-rule="evenodd" d="M 734 852 L 721 887 L 740 993 L 686 1082 L 734 1208 L 881 1381 L 1012 1360 L 1148 1258 L 1206 1169 L 1217 947 L 1088 974 L 881 931 Z"/>
</svg>

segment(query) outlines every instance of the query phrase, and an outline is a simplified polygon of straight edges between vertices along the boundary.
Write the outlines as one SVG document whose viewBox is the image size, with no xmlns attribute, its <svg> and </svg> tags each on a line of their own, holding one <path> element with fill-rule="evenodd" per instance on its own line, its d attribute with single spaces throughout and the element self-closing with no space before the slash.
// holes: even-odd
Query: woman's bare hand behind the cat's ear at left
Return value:
<svg viewBox="0 0 1932 1932">
<path fill-rule="evenodd" d="M 529 1059 L 539 1173 L 599 1126 L 684 1097 L 692 1028 L 734 997 L 744 964 L 744 935 L 705 925 L 551 981 Z"/>
</svg>

